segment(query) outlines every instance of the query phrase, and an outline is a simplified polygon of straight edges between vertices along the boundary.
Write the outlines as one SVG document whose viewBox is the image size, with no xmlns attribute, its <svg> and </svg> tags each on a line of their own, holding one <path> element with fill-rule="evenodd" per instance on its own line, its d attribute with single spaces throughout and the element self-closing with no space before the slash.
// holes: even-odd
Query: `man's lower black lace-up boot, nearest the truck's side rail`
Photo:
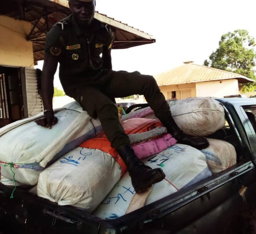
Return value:
<svg viewBox="0 0 256 234">
<path fill-rule="evenodd" d="M 137 158 L 129 145 L 120 146 L 116 151 L 127 166 L 131 177 L 131 184 L 136 193 L 142 193 L 152 184 L 164 179 L 165 174 L 161 168 L 152 169 L 151 167 L 146 166 Z"/>
</svg>

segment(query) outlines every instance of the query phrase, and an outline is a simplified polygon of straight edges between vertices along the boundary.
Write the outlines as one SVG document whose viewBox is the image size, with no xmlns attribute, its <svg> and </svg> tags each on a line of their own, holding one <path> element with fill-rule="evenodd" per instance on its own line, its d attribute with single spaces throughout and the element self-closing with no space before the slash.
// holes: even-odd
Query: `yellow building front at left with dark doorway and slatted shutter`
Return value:
<svg viewBox="0 0 256 234">
<path fill-rule="evenodd" d="M 26 39 L 31 27 L 29 22 L 0 15 L 1 125 L 42 111 L 33 44 Z"/>
</svg>

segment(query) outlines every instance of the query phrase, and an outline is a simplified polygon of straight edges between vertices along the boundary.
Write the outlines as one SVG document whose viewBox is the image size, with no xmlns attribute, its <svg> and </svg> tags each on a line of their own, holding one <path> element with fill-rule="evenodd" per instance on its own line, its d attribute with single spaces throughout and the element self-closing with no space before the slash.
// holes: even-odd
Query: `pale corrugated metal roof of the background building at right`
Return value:
<svg viewBox="0 0 256 234">
<path fill-rule="evenodd" d="M 167 72 L 157 74 L 154 77 L 158 86 L 228 79 L 238 79 L 238 83 L 255 82 L 240 74 L 194 63 L 185 63 Z"/>
</svg>

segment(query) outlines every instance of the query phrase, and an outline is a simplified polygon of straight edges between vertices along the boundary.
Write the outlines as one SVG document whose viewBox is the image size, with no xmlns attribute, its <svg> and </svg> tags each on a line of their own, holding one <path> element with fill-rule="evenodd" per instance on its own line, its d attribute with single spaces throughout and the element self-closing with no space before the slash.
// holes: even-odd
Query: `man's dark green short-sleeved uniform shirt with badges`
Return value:
<svg viewBox="0 0 256 234">
<path fill-rule="evenodd" d="M 87 31 L 77 26 L 72 15 L 52 26 L 46 36 L 45 52 L 58 58 L 59 78 L 67 94 L 74 84 L 100 76 L 104 69 L 102 52 L 111 49 L 113 41 L 110 27 L 97 19 Z"/>
</svg>

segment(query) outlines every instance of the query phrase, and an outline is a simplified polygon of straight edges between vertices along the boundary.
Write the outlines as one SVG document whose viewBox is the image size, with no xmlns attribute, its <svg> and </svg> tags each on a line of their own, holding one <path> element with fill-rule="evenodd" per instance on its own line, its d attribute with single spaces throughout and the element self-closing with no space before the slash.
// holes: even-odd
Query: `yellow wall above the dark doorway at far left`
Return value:
<svg viewBox="0 0 256 234">
<path fill-rule="evenodd" d="M 26 41 L 31 24 L 0 15 L 0 65 L 34 67 L 32 42 Z"/>
</svg>

